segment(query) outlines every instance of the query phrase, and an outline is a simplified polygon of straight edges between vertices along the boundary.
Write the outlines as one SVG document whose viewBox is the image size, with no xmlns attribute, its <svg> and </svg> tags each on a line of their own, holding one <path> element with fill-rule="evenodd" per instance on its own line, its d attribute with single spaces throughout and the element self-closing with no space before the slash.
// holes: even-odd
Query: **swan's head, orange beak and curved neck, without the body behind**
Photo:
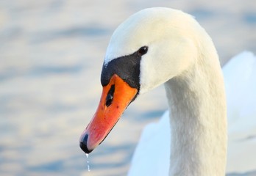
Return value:
<svg viewBox="0 0 256 176">
<path fill-rule="evenodd" d="M 99 106 L 79 139 L 85 153 L 106 138 L 129 103 L 164 84 L 170 111 L 168 175 L 225 174 L 224 78 L 211 38 L 191 15 L 154 7 L 127 18 L 107 46 L 101 83 Z"/>
</svg>

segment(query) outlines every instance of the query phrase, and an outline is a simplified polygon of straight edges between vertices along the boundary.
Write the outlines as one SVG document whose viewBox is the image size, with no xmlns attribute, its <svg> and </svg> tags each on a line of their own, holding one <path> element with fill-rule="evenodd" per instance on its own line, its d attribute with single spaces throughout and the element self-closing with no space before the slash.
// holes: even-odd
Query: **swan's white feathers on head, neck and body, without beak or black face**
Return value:
<svg viewBox="0 0 256 176">
<path fill-rule="evenodd" d="M 148 52 L 140 62 L 140 94 L 164 84 L 170 113 L 143 131 L 129 175 L 224 175 L 226 95 L 209 35 L 191 15 L 179 10 L 141 10 L 115 30 L 104 64 L 142 46 Z M 256 168 L 253 157 L 244 166 L 249 145 L 243 145 L 255 146 L 255 70 L 255 57 L 249 53 L 232 59 L 224 68 L 230 122 L 228 172 Z"/>
</svg>

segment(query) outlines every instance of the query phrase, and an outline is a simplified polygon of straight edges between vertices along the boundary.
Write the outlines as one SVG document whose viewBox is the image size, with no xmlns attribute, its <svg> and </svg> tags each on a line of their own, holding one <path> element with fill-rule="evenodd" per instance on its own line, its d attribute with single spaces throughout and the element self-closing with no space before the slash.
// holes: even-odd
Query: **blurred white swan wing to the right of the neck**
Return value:
<svg viewBox="0 0 256 176">
<path fill-rule="evenodd" d="M 227 172 L 256 169 L 256 56 L 244 51 L 223 67 L 227 92 Z"/>
</svg>

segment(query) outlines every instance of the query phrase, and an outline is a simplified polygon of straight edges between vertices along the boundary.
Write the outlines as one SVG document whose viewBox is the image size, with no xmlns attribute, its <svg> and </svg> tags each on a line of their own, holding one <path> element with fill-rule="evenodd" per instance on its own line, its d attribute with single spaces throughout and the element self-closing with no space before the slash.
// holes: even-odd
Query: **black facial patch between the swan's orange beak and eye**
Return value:
<svg viewBox="0 0 256 176">
<path fill-rule="evenodd" d="M 139 92 L 141 56 L 146 54 L 147 51 L 148 47 L 143 46 L 133 54 L 118 57 L 108 62 L 107 65 L 103 65 L 101 76 L 102 86 L 106 86 L 110 82 L 113 74 L 117 74 L 130 87 L 138 89 Z"/>
</svg>

